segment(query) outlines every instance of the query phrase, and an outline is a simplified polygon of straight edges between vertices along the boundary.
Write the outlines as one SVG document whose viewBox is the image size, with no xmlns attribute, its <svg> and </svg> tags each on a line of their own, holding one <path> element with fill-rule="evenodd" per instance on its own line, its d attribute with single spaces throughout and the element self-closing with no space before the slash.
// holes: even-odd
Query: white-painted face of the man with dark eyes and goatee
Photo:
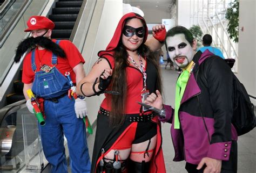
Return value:
<svg viewBox="0 0 256 173">
<path fill-rule="evenodd" d="M 169 56 L 178 67 L 185 68 L 193 60 L 194 51 L 184 34 L 166 38 Z M 193 43 L 194 45 L 194 43 Z"/>
</svg>

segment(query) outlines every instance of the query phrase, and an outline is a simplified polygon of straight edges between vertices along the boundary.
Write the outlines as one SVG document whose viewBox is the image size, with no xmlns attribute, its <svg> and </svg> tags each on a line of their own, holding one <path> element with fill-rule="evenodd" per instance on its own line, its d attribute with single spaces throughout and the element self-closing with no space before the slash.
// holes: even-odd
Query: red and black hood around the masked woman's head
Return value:
<svg viewBox="0 0 256 173">
<path fill-rule="evenodd" d="M 129 19 L 133 19 L 133 18 L 138 18 L 138 19 L 142 20 L 142 23 L 143 23 L 144 28 L 145 28 L 145 35 L 144 35 L 144 38 L 143 38 L 143 43 L 146 42 L 148 30 L 147 30 L 147 25 L 146 25 L 145 19 L 142 16 L 138 15 L 137 13 L 134 13 L 134 12 L 127 13 L 126 15 L 124 15 L 120 19 L 120 21 L 117 25 L 116 31 L 114 32 L 114 35 L 113 35 L 109 45 L 107 45 L 105 51 L 99 51 L 98 52 L 99 57 L 103 56 L 104 54 L 112 54 L 110 52 L 113 51 L 117 47 L 117 45 L 119 44 L 120 39 L 122 38 L 123 28 L 124 28 L 124 25 L 125 25 L 126 21 L 129 20 Z"/>
</svg>

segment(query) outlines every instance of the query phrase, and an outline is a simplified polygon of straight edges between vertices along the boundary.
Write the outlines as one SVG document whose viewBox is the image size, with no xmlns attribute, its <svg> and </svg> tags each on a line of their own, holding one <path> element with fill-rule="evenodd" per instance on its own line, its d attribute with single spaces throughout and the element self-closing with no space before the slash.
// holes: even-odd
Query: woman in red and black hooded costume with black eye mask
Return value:
<svg viewBox="0 0 256 173">
<path fill-rule="evenodd" d="M 97 117 L 91 172 L 166 172 L 160 122 L 137 103 L 161 91 L 152 51 L 161 47 L 165 27 L 153 27 L 149 40 L 147 33 L 143 17 L 124 15 L 106 50 L 98 53 L 98 61 L 78 84 L 80 95 L 106 96 Z"/>
</svg>

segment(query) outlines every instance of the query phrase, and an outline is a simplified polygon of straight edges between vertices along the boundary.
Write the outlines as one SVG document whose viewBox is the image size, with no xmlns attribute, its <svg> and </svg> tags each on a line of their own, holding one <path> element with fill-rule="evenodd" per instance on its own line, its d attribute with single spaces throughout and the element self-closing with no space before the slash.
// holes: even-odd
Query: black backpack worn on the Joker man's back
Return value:
<svg viewBox="0 0 256 173">
<path fill-rule="evenodd" d="M 213 55 L 215 56 L 215 55 Z M 210 56 L 209 56 L 210 57 Z M 216 57 L 219 58 L 219 57 Z M 207 58 L 206 58 L 207 59 Z M 234 59 L 225 59 L 225 62 L 233 67 Z M 199 70 L 198 70 L 199 71 Z M 232 73 L 233 77 L 233 116 L 232 124 L 235 127 L 238 136 L 250 132 L 256 126 L 254 114 L 254 105 L 251 103 L 245 86 Z M 198 98 L 199 99 L 199 98 Z"/>
</svg>

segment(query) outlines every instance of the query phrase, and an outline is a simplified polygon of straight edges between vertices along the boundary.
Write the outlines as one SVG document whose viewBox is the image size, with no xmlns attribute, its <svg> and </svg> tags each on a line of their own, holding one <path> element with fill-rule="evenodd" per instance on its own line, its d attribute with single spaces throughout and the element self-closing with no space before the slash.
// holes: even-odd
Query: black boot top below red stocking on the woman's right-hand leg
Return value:
<svg viewBox="0 0 256 173">
<path fill-rule="evenodd" d="M 129 160 L 129 173 L 147 173 L 149 172 L 150 162 L 142 161 L 142 163 Z"/>
</svg>

